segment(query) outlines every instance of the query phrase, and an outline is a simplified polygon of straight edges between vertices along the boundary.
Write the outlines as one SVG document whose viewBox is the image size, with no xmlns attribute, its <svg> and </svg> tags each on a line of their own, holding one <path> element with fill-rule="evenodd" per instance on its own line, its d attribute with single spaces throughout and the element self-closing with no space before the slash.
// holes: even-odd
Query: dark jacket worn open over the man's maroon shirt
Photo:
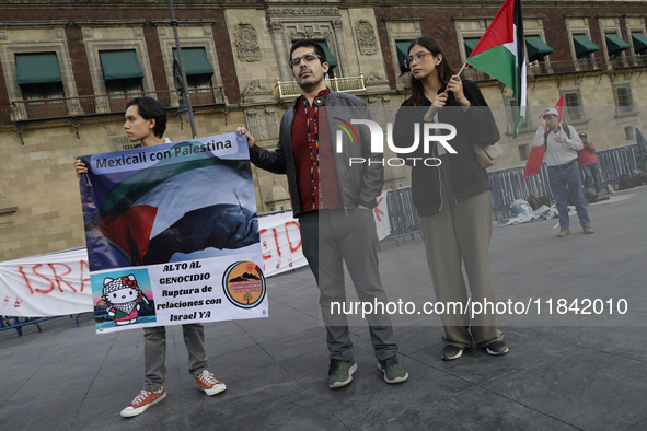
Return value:
<svg viewBox="0 0 647 431">
<path fill-rule="evenodd" d="M 297 170 L 294 167 L 294 154 L 292 151 L 292 121 L 296 115 L 296 105 L 299 102 L 298 97 L 292 106 L 286 110 L 281 118 L 279 140 L 275 151 L 262 149 L 254 145 L 250 149 L 250 159 L 252 163 L 262 170 L 269 171 L 274 174 L 287 174 L 288 187 L 290 193 L 290 200 L 292 202 L 292 213 L 294 217 L 299 215 L 301 211 L 301 202 L 299 199 L 299 190 L 297 188 Z M 331 93 L 323 97 L 315 97 L 314 103 L 319 106 L 326 106 L 326 117 L 328 119 L 328 127 L 331 130 L 331 139 L 336 143 L 335 130 L 337 127 L 331 126 L 332 117 L 345 117 L 348 123 L 353 118 L 370 119 L 370 114 L 365 101 L 359 97 L 346 93 Z M 334 145 L 333 153 L 335 156 L 335 172 L 337 175 L 337 183 L 339 184 L 339 195 L 344 209 L 350 210 L 358 205 L 367 208 L 373 208 L 377 205 L 377 197 L 382 193 L 384 185 L 384 166 L 381 164 L 383 154 L 371 153 L 370 133 L 366 126 L 354 126 L 358 133 L 359 141 L 351 142 L 350 139 L 343 133 L 343 151 L 337 153 Z M 333 144 L 332 142 L 321 142 L 322 144 Z M 363 158 L 367 163 L 354 163 L 349 165 L 350 158 Z M 368 164 L 368 160 L 371 164 Z"/>
</svg>

